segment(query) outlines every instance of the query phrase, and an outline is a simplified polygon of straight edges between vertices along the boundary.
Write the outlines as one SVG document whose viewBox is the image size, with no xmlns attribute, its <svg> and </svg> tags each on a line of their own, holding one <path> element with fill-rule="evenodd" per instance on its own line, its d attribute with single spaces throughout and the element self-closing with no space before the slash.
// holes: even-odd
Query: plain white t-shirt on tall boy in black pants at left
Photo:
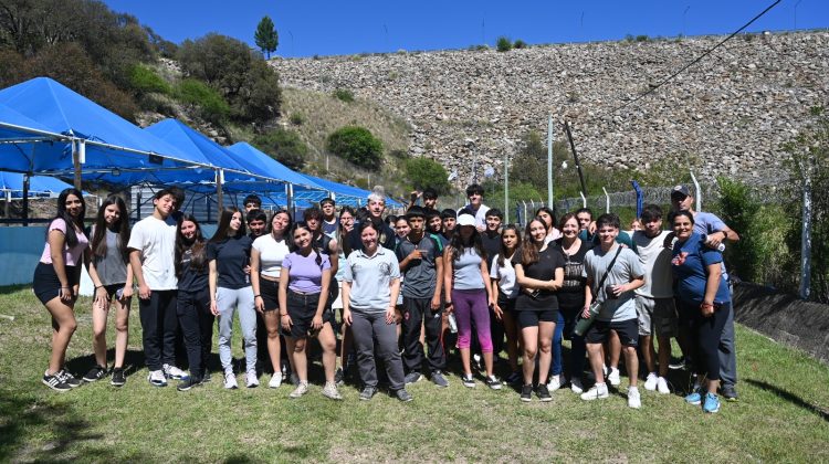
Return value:
<svg viewBox="0 0 829 464">
<path fill-rule="evenodd" d="M 150 215 L 133 226 L 127 247 L 141 252 L 144 282 L 153 291 L 178 287 L 176 277 L 176 221 Z"/>
</svg>

